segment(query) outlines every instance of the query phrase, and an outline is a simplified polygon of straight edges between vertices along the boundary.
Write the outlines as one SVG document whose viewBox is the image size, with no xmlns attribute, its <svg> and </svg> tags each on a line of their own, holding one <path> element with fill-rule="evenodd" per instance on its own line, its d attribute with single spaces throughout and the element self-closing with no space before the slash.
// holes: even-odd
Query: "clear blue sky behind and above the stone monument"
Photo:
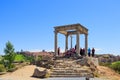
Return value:
<svg viewBox="0 0 120 80">
<path fill-rule="evenodd" d="M 89 29 L 96 53 L 120 55 L 120 0 L 0 0 L 0 54 L 8 40 L 16 51 L 53 50 L 54 27 L 74 23 Z M 64 50 L 65 37 L 58 37 Z"/>
</svg>

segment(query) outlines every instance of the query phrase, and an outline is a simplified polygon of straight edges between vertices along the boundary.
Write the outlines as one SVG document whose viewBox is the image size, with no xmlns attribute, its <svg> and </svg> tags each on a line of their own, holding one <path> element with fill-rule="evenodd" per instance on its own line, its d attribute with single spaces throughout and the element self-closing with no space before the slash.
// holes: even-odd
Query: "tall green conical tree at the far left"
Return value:
<svg viewBox="0 0 120 80">
<path fill-rule="evenodd" d="M 13 45 L 11 44 L 11 42 L 10 41 L 8 41 L 7 43 L 6 43 L 6 47 L 5 47 L 5 49 L 4 49 L 4 52 L 5 52 L 5 60 L 7 60 L 7 63 L 5 63 L 6 65 L 6 67 L 8 68 L 8 69 L 10 69 L 10 68 L 12 68 L 12 63 L 13 63 L 13 61 L 14 61 L 14 58 L 15 58 L 15 52 L 14 52 L 14 47 L 13 47 Z"/>
</svg>

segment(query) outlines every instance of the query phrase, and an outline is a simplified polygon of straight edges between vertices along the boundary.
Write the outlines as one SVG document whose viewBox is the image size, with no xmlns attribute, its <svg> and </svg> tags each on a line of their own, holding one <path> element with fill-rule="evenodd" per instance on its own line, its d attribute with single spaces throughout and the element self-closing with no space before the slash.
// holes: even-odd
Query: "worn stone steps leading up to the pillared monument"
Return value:
<svg viewBox="0 0 120 80">
<path fill-rule="evenodd" d="M 81 66 L 73 59 L 58 59 L 52 68 L 51 77 L 93 77 L 87 66 Z"/>
</svg>

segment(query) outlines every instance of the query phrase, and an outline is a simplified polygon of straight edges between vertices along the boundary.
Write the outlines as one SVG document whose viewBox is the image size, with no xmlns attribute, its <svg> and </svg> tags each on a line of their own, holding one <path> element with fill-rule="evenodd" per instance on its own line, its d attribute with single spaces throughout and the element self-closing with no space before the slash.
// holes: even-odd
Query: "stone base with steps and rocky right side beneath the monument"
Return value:
<svg viewBox="0 0 120 80">
<path fill-rule="evenodd" d="M 95 58 L 85 57 L 77 60 L 69 59 L 69 58 L 56 59 L 50 77 L 93 78 L 94 71 L 96 70 L 95 68 L 97 65 L 98 62 L 97 59 Z"/>
</svg>

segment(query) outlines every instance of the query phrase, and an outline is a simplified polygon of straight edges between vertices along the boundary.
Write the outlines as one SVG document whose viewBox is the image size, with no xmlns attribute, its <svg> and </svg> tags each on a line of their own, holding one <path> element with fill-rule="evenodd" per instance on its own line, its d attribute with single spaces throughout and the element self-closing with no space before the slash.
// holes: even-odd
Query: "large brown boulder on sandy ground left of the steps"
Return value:
<svg viewBox="0 0 120 80">
<path fill-rule="evenodd" d="M 40 71 L 39 68 L 35 68 L 33 77 L 46 78 L 46 77 L 49 77 L 49 72 L 47 71 L 47 69 Z"/>
</svg>

